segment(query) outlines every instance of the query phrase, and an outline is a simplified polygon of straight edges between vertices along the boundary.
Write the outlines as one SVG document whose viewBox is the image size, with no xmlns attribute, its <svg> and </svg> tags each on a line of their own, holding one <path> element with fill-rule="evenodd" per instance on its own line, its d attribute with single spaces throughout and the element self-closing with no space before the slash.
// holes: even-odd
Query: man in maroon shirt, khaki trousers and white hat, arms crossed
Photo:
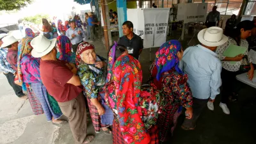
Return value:
<svg viewBox="0 0 256 144">
<path fill-rule="evenodd" d="M 57 60 L 55 44 L 56 38 L 48 40 L 45 36 L 36 36 L 31 41 L 31 54 L 41 58 L 42 83 L 67 116 L 76 143 L 90 143 L 94 136 L 87 136 L 86 107 L 77 68 L 74 64 Z"/>
</svg>

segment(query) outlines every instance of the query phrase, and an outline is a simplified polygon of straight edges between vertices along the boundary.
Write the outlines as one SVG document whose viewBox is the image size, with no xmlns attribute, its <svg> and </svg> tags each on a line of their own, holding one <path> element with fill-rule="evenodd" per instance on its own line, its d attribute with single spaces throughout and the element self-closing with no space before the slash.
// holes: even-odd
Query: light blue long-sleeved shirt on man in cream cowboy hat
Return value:
<svg viewBox="0 0 256 144">
<path fill-rule="evenodd" d="M 202 45 L 188 47 L 179 67 L 188 74 L 188 84 L 193 97 L 215 99 L 220 93 L 221 62 L 217 54 Z"/>
</svg>

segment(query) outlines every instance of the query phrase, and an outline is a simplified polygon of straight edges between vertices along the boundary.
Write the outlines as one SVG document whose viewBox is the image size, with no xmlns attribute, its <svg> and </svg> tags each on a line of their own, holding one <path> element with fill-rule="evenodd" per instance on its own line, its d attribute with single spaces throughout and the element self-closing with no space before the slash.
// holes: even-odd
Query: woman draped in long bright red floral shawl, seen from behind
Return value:
<svg viewBox="0 0 256 144">
<path fill-rule="evenodd" d="M 113 144 L 150 143 L 139 106 L 141 81 L 140 62 L 124 46 L 115 44 L 109 52 L 105 87 L 105 99 L 115 115 Z"/>
</svg>

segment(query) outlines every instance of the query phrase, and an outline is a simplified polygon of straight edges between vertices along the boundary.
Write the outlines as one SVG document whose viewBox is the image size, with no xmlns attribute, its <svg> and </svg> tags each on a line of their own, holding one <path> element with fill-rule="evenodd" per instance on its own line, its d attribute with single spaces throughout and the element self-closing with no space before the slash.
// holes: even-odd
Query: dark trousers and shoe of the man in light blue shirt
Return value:
<svg viewBox="0 0 256 144">
<path fill-rule="evenodd" d="M 203 109 L 205 108 L 206 104 L 208 102 L 208 99 L 196 99 L 193 98 L 193 116 L 189 120 L 185 118 L 183 122 L 183 126 L 187 128 L 194 128 L 196 126 L 196 121 L 199 118 L 200 114 L 202 113 Z"/>
</svg>

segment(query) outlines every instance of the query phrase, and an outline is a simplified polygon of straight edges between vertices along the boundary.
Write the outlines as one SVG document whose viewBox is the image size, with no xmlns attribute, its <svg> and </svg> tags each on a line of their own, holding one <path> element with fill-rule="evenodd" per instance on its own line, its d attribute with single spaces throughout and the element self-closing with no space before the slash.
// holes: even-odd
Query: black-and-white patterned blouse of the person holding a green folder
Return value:
<svg viewBox="0 0 256 144">
<path fill-rule="evenodd" d="M 222 67 L 225 68 L 225 70 L 228 70 L 230 72 L 237 72 L 241 66 L 242 60 L 237 61 L 237 63 L 235 65 L 232 65 L 229 61 L 223 61 L 226 58 L 225 56 L 223 56 L 223 53 L 226 51 L 229 44 L 237 45 L 236 40 L 228 37 L 228 41 L 225 44 L 217 47 L 216 54 L 218 54 L 218 58 L 221 60 Z M 248 44 L 247 40 L 241 39 L 240 46 L 244 47 L 246 49 L 246 51 L 244 52 L 244 56 L 247 55 L 249 63 L 252 63 L 251 56 L 248 53 L 249 44 Z"/>
</svg>

